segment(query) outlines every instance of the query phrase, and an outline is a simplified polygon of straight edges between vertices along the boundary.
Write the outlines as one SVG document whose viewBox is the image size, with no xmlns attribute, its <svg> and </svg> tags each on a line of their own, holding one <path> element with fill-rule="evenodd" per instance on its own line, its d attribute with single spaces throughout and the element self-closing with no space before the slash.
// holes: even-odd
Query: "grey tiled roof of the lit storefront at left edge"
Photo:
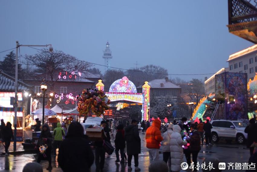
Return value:
<svg viewBox="0 0 257 172">
<path fill-rule="evenodd" d="M 14 88 L 15 78 L 7 75 L 6 73 L 0 71 L 0 90 L 2 91 L 15 91 Z M 18 90 L 28 90 L 32 86 L 18 81 Z"/>
</svg>

